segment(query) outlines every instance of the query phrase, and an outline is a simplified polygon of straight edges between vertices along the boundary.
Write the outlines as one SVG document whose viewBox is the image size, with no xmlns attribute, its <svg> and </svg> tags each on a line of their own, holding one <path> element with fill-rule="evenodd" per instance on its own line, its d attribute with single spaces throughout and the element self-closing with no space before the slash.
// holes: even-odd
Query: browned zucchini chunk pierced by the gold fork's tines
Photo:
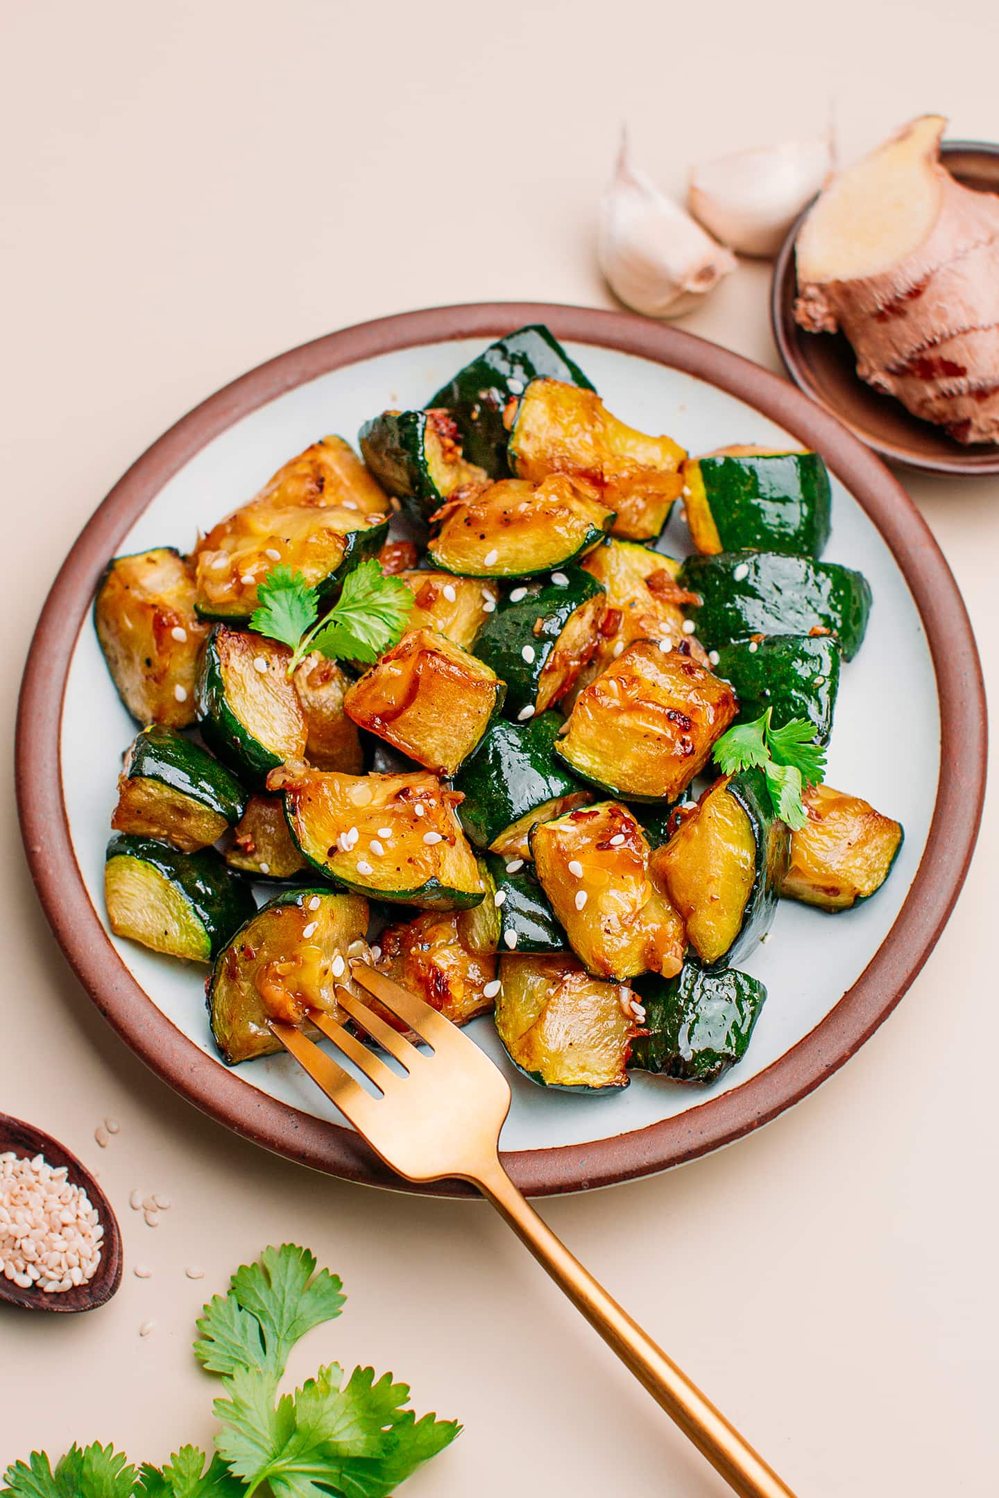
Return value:
<svg viewBox="0 0 999 1498">
<path fill-rule="evenodd" d="M 335 989 L 353 987 L 350 957 L 368 957 L 367 921 L 367 900 L 322 888 L 286 891 L 256 911 L 207 984 L 211 1034 L 228 1067 L 282 1049 L 270 1020 L 318 1034 L 304 1023 L 309 1010 L 346 1019 Z"/>
</svg>

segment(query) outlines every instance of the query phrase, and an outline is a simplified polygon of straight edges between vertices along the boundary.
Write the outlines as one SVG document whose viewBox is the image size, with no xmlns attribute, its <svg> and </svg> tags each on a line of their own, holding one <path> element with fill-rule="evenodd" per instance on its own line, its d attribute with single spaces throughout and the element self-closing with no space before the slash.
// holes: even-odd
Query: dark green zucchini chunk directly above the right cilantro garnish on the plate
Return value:
<svg viewBox="0 0 999 1498">
<path fill-rule="evenodd" d="M 738 698 L 737 722 L 752 724 L 768 707 L 783 728 L 800 718 L 827 745 L 839 692 L 840 649 L 831 635 L 768 635 L 738 640 L 717 652 L 714 671 Z"/>
</svg>

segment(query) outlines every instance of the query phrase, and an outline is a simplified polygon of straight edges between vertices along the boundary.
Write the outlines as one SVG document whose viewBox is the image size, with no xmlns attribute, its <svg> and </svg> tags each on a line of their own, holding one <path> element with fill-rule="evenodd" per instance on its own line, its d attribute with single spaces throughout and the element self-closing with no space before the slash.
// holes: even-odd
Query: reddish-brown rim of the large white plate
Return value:
<svg viewBox="0 0 999 1498">
<path fill-rule="evenodd" d="M 686 372 L 746 401 L 819 451 L 893 551 L 914 595 L 936 673 L 941 764 L 923 860 L 888 936 L 833 1011 L 765 1071 L 675 1118 L 611 1138 L 517 1150 L 506 1168 L 530 1195 L 586 1191 L 677 1165 L 759 1128 L 843 1065 L 887 1019 L 930 954 L 968 872 L 986 785 L 986 695 L 971 623 L 951 571 L 897 479 L 821 406 L 776 374 L 677 328 L 620 312 L 547 303 L 481 303 L 400 313 L 282 354 L 171 427 L 84 526 L 42 608 L 21 685 L 16 792 L 28 864 L 45 914 L 84 989 L 135 1053 L 211 1118 L 279 1155 L 347 1180 L 407 1186 L 349 1129 L 259 1092 L 201 1052 L 138 986 L 94 911 L 73 855 L 61 789 L 66 679 L 106 560 L 163 484 L 235 421 L 334 369 L 449 339 L 494 339 L 545 322 L 592 343 Z M 430 1188 L 467 1195 L 461 1182 Z"/>
</svg>

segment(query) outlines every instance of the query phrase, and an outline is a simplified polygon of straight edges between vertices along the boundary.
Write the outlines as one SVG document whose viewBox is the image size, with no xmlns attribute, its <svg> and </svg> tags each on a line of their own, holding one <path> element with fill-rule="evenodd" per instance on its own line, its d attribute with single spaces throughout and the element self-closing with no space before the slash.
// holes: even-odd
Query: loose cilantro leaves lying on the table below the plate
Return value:
<svg viewBox="0 0 999 1498">
<path fill-rule="evenodd" d="M 9 1498 L 386 1498 L 461 1429 L 416 1419 L 409 1386 L 391 1374 L 328 1363 L 294 1393 L 279 1393 L 288 1356 L 340 1315 L 341 1284 L 316 1272 L 309 1249 L 285 1243 L 243 1264 L 198 1321 L 195 1356 L 222 1375 L 216 1455 L 183 1446 L 159 1468 L 136 1468 L 99 1443 L 73 1446 L 52 1468 L 43 1452 L 7 1468 Z M 261 1492 L 262 1498 L 262 1492 Z"/>
</svg>

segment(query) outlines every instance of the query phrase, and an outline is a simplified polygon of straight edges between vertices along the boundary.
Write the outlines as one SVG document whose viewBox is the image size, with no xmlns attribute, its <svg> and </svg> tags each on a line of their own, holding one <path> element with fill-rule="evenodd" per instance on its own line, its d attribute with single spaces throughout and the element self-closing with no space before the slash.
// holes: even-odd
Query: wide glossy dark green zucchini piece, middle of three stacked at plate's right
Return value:
<svg viewBox="0 0 999 1498">
<path fill-rule="evenodd" d="M 689 614 L 707 650 L 752 635 L 834 635 L 843 658 L 860 650 L 870 614 L 870 583 L 836 562 L 776 551 L 719 551 L 687 557 L 680 580 L 701 598 Z"/>
</svg>

